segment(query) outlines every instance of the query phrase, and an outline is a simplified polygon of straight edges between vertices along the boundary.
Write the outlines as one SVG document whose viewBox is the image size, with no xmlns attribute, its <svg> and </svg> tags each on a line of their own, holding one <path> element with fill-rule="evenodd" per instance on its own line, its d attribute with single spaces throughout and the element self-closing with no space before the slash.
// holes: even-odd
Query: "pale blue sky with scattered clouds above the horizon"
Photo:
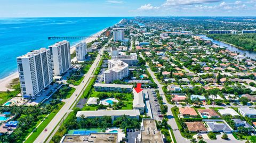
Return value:
<svg viewBox="0 0 256 143">
<path fill-rule="evenodd" d="M 256 16 L 256 0 L 0 0 L 0 17 Z"/>
</svg>

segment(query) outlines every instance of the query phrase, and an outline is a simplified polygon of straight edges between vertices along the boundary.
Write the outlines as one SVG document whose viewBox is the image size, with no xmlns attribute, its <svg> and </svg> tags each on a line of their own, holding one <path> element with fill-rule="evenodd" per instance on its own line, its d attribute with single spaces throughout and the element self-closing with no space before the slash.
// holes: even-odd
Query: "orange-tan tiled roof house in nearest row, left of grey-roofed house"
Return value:
<svg viewBox="0 0 256 143">
<path fill-rule="evenodd" d="M 207 131 L 207 128 L 205 127 L 203 122 L 186 122 L 186 125 L 190 132 L 205 133 Z"/>
</svg>

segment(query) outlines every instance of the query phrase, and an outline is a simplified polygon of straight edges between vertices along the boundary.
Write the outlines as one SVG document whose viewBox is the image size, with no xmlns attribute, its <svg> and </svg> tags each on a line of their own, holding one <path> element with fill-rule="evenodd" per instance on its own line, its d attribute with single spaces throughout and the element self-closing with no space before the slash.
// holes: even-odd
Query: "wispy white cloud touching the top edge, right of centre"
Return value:
<svg viewBox="0 0 256 143">
<path fill-rule="evenodd" d="M 193 5 L 204 3 L 217 3 L 221 0 L 166 0 L 163 6 L 175 6 L 175 5 Z"/>
</svg>

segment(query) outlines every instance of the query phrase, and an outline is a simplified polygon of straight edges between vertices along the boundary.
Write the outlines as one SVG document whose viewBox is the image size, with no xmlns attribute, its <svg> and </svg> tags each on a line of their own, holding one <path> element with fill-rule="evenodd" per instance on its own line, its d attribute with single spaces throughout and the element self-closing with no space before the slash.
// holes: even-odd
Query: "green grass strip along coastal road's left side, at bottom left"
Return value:
<svg viewBox="0 0 256 143">
<path fill-rule="evenodd" d="M 53 117 L 60 111 L 60 109 L 62 108 L 62 106 L 65 103 L 61 102 L 58 106 L 57 109 L 55 109 L 54 111 L 52 111 L 52 113 L 49 114 L 49 116 L 46 117 L 46 119 L 39 125 L 39 127 L 31 134 L 31 136 L 25 141 L 25 143 L 29 143 L 29 142 L 33 142 L 35 141 L 35 139 L 39 136 L 39 134 L 44 130 L 44 128 L 47 126 L 47 124 L 50 123 L 50 121 L 53 119 Z M 37 124 L 34 126 L 36 127 L 38 124 L 40 123 L 40 121 L 37 122 Z M 33 131 L 34 128 L 31 130 Z M 30 132 L 31 132 L 30 131 Z M 30 133 L 29 132 L 29 133 Z"/>
</svg>

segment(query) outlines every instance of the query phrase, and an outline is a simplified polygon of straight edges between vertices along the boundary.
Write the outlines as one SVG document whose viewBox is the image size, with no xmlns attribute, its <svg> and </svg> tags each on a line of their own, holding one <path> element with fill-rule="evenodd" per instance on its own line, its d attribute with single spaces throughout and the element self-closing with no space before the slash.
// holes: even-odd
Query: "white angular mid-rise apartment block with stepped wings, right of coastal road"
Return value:
<svg viewBox="0 0 256 143">
<path fill-rule="evenodd" d="M 129 65 L 120 60 L 108 60 L 108 70 L 104 72 L 104 82 L 122 80 L 129 75 Z"/>
</svg>

